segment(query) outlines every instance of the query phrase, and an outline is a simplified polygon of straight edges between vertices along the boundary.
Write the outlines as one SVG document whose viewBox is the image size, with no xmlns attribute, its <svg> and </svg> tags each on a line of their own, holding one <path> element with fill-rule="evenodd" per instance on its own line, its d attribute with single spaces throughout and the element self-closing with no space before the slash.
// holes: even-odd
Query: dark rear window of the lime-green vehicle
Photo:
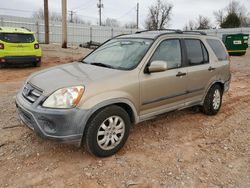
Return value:
<svg viewBox="0 0 250 188">
<path fill-rule="evenodd" d="M 8 43 L 32 43 L 35 38 L 33 34 L 0 33 L 0 40 Z"/>
</svg>

